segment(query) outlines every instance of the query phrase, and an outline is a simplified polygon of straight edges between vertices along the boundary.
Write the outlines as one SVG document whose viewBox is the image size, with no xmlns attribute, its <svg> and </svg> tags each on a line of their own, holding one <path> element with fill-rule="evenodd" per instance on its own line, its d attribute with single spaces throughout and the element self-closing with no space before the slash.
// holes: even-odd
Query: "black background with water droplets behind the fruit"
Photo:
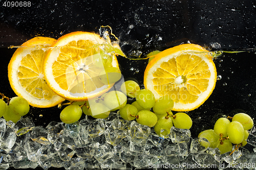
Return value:
<svg viewBox="0 0 256 170">
<path fill-rule="evenodd" d="M 110 26 L 126 55 L 151 51 L 180 43 L 196 43 L 212 50 L 249 52 L 224 54 L 214 60 L 221 80 L 209 99 L 198 109 L 188 112 L 193 118 L 191 133 L 212 129 L 221 115 L 242 109 L 256 117 L 256 2 L 255 1 L 34 1 L 31 7 L 5 7 L 0 1 L 0 92 L 15 96 L 7 66 L 15 49 L 35 36 L 59 38 L 74 31 L 96 32 Z M 212 46 L 218 42 L 220 47 Z M 216 48 L 217 49 L 216 49 Z M 118 57 L 124 78 L 143 84 L 147 60 Z M 130 68 L 130 64 L 134 67 Z M 60 122 L 60 109 L 32 108 L 27 116 L 36 126 Z M 39 117 L 42 114 L 42 117 Z"/>
</svg>

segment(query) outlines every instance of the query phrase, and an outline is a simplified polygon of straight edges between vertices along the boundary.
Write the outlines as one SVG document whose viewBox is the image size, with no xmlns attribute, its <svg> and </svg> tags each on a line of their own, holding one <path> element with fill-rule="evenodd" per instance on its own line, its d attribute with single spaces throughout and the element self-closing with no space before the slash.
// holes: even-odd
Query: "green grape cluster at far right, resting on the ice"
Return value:
<svg viewBox="0 0 256 170">
<path fill-rule="evenodd" d="M 229 121 L 229 118 L 232 120 Z M 214 129 L 208 129 L 199 133 L 198 137 L 205 138 L 208 142 L 201 140 L 203 147 L 218 148 L 221 154 L 238 150 L 247 144 L 248 130 L 253 127 L 252 118 L 245 113 L 237 113 L 233 117 L 219 118 Z M 233 144 L 236 149 L 233 150 Z M 233 150 L 233 151 L 232 151 Z"/>
</svg>

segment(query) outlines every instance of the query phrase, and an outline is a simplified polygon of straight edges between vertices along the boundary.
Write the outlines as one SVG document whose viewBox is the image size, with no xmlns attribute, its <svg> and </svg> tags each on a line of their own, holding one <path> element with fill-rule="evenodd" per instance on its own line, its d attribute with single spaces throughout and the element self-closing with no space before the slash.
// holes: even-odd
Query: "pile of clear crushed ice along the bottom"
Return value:
<svg viewBox="0 0 256 170">
<path fill-rule="evenodd" d="M 152 131 L 153 130 L 153 131 Z M 201 139 L 203 140 L 203 139 Z M 256 147 L 256 128 L 248 143 Z M 64 167 L 66 169 L 255 169 L 256 153 L 245 148 L 220 155 L 201 147 L 190 131 L 172 128 L 169 138 L 154 129 L 126 121 L 111 113 L 106 119 L 86 119 L 74 124 L 51 122 L 35 127 L 30 117 L 16 124 L 0 118 L 0 168 Z M 256 151 L 256 150 L 254 150 Z"/>
</svg>

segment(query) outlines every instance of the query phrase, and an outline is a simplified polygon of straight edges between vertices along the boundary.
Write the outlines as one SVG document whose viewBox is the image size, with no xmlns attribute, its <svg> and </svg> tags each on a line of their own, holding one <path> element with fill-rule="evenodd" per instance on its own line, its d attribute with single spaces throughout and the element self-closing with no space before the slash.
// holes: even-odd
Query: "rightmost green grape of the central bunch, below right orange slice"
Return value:
<svg viewBox="0 0 256 170">
<path fill-rule="evenodd" d="M 172 116 L 172 119 L 176 128 L 190 129 L 192 126 L 192 120 L 186 113 L 178 112 Z"/>
</svg>

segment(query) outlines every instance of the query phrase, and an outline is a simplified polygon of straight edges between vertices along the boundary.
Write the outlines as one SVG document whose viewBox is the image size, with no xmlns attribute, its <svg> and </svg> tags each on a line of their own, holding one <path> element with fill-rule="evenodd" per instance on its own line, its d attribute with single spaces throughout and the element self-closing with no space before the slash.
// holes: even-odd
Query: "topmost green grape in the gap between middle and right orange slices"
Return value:
<svg viewBox="0 0 256 170">
<path fill-rule="evenodd" d="M 130 98 L 136 98 L 136 93 L 140 91 L 140 86 L 135 81 L 128 80 L 122 83 L 120 89 Z"/>
</svg>

